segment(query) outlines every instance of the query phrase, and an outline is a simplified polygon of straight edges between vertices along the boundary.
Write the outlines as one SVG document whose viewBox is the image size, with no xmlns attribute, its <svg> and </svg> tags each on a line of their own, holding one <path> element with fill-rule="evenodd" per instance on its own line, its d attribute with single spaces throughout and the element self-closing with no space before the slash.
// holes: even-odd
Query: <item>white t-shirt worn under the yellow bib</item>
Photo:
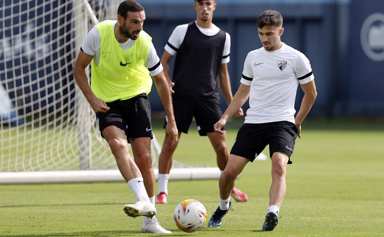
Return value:
<svg viewBox="0 0 384 237">
<path fill-rule="evenodd" d="M 116 22 L 113 24 L 113 28 L 115 27 Z M 101 46 L 100 41 L 101 41 L 101 37 L 100 37 L 99 30 L 98 30 L 98 28 L 93 27 L 88 32 L 88 35 L 86 36 L 84 43 L 81 46 L 84 53 L 94 56 L 93 59 L 95 60 L 96 65 L 99 65 L 99 61 L 100 61 L 100 46 Z M 135 41 L 136 40 L 128 39 L 124 43 L 119 43 L 116 40 L 116 42 L 118 42 L 118 45 L 120 46 L 120 48 L 124 51 L 129 50 L 133 46 Z M 151 41 L 151 45 L 149 48 L 149 54 L 148 54 L 148 58 L 147 58 L 147 62 L 146 62 L 147 68 L 151 69 L 149 71 L 149 74 L 151 74 L 151 76 L 156 76 L 157 74 L 159 74 L 163 70 L 163 66 L 161 65 L 161 63 L 157 67 L 154 68 L 154 66 L 156 66 L 159 62 L 160 62 L 159 56 L 157 56 L 156 49 L 153 46 L 153 43 Z"/>
</svg>

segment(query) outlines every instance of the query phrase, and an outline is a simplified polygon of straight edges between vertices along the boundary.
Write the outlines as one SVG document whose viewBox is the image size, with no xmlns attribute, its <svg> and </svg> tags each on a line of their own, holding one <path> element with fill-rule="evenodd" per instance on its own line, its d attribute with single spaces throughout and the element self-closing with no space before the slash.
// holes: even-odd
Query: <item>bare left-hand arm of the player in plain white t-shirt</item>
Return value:
<svg viewBox="0 0 384 237">
<path fill-rule="evenodd" d="M 241 106 L 247 101 L 249 97 L 249 91 L 251 86 L 244 85 L 243 83 L 240 83 L 240 87 L 237 90 L 235 96 L 233 96 L 232 102 L 228 106 L 227 110 L 225 110 L 225 113 L 221 117 L 221 119 L 215 123 L 214 129 L 215 133 L 218 134 L 224 134 L 225 132 L 221 129 L 225 126 L 228 119 L 236 112 L 238 111 Z"/>
</svg>

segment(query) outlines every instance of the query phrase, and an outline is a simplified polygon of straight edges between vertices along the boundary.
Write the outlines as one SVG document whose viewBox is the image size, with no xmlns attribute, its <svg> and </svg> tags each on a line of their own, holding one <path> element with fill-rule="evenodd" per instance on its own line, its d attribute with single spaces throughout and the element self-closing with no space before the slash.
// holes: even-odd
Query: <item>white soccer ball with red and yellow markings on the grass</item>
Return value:
<svg viewBox="0 0 384 237">
<path fill-rule="evenodd" d="M 187 199 L 177 205 L 173 213 L 173 220 L 180 230 L 195 232 L 204 226 L 207 220 L 207 210 L 201 202 Z"/>
</svg>

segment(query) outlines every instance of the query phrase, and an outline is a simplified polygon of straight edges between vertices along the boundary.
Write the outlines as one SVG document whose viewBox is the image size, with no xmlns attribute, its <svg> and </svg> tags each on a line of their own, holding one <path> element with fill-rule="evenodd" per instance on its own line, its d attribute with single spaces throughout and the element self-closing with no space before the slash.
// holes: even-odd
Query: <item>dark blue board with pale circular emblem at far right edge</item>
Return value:
<svg viewBox="0 0 384 237">
<path fill-rule="evenodd" d="M 347 114 L 384 115 L 384 1 L 353 0 Z"/>
</svg>

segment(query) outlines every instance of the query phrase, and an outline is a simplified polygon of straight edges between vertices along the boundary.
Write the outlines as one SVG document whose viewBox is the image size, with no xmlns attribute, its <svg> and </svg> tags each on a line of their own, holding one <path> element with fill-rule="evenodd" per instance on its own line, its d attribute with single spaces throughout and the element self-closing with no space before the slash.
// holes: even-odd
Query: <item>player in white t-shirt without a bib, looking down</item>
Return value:
<svg viewBox="0 0 384 237">
<path fill-rule="evenodd" d="M 257 27 L 263 47 L 248 53 L 240 87 L 227 111 L 214 125 L 216 133 L 224 134 L 221 128 L 249 97 L 250 108 L 220 176 L 219 207 L 210 218 L 208 227 L 221 227 L 224 215 L 232 207 L 230 191 L 236 177 L 268 144 L 272 184 L 262 230 L 276 227 L 286 192 L 286 165 L 292 163 L 290 157 L 295 139 L 301 137 L 301 123 L 317 95 L 309 60 L 300 51 L 281 42 L 284 28 L 280 12 L 263 12 L 257 19 Z M 295 118 L 294 104 L 299 84 L 305 95 Z"/>
</svg>

